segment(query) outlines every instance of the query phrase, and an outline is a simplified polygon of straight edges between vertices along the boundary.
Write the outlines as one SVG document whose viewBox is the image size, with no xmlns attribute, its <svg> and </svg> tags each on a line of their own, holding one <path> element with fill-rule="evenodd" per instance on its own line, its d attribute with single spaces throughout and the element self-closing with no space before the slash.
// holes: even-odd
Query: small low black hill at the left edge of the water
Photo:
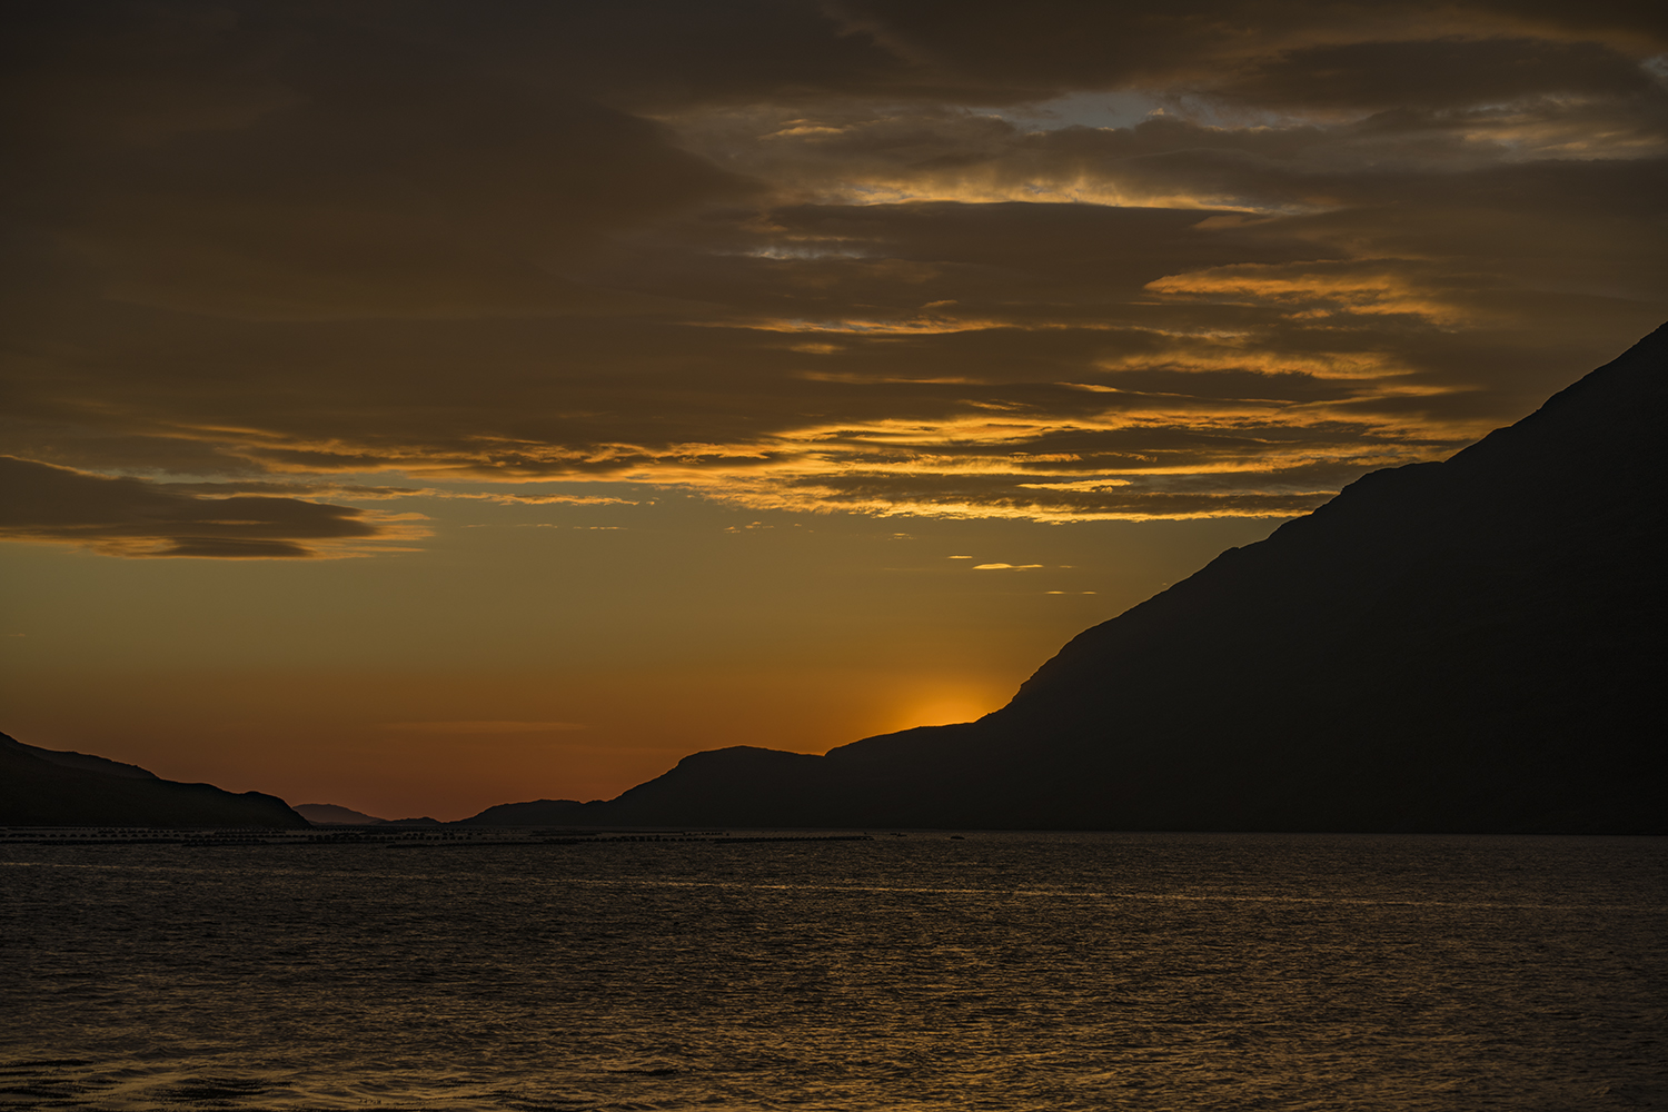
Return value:
<svg viewBox="0 0 1668 1112">
<path fill-rule="evenodd" d="M 178 784 L 105 757 L 25 745 L 0 734 L 0 825 L 305 827 L 275 795 Z"/>
</svg>

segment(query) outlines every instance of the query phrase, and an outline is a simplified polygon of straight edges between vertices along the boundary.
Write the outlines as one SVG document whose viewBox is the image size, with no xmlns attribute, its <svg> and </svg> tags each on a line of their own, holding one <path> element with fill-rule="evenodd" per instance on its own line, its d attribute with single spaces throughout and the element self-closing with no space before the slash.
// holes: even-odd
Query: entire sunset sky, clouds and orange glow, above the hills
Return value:
<svg viewBox="0 0 1668 1112">
<path fill-rule="evenodd" d="M 1668 318 L 1655 3 L 5 22 L 0 730 L 292 804 L 977 717 Z"/>
</svg>

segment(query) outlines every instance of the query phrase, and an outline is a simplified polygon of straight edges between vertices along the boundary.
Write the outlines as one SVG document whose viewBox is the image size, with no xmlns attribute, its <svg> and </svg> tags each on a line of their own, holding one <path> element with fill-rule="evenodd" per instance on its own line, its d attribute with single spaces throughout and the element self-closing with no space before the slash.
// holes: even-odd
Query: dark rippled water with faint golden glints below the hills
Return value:
<svg viewBox="0 0 1668 1112">
<path fill-rule="evenodd" d="M 8 1109 L 1663 1109 L 1668 840 L 0 845 Z"/>
</svg>

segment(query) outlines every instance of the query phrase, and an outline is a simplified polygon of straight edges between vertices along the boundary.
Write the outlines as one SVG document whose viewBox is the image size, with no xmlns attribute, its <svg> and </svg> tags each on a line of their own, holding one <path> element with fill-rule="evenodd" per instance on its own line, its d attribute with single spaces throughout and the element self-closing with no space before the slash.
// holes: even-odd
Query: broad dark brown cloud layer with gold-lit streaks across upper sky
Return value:
<svg viewBox="0 0 1668 1112">
<path fill-rule="evenodd" d="M 1660 323 L 1661 18 L 1566 8 L 13 5 L 8 535 L 1301 512 Z"/>
</svg>

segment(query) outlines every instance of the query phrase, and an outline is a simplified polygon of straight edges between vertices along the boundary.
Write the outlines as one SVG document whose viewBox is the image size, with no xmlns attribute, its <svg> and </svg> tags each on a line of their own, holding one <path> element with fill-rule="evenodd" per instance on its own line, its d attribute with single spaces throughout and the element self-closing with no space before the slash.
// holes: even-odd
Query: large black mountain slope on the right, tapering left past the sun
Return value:
<svg viewBox="0 0 1668 1112">
<path fill-rule="evenodd" d="M 1668 325 L 1078 635 L 1001 710 L 467 822 L 1668 832 Z"/>
</svg>

